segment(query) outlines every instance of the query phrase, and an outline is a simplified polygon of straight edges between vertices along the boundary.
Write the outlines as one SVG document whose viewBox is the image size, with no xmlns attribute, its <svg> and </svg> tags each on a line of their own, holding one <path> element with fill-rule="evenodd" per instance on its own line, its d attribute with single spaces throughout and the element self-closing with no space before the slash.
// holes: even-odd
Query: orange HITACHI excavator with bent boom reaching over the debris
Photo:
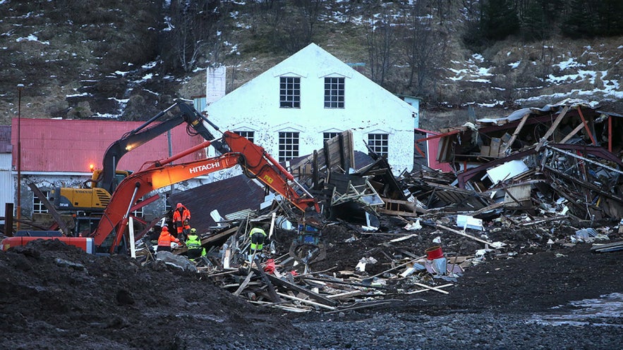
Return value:
<svg viewBox="0 0 623 350">
<path fill-rule="evenodd" d="M 214 126 L 214 125 L 212 125 Z M 216 128 L 216 127 L 215 127 Z M 216 128 L 217 129 L 217 128 Z M 217 129 L 218 130 L 218 129 Z M 245 137 L 234 132 L 223 133 L 219 145 L 225 146 L 220 156 L 192 161 L 188 163 L 171 164 L 192 154 L 199 149 L 206 148 L 219 140 L 208 140 L 186 151 L 161 161 L 148 162 L 141 170 L 128 175 L 119 183 L 113 192 L 110 202 L 104 210 L 99 224 L 89 235 L 90 237 L 49 237 L 65 241 L 68 244 L 80 246 L 88 252 L 121 253 L 123 251 L 123 237 L 126 235 L 126 224 L 130 213 L 146 201 L 139 200 L 162 187 L 189 180 L 193 177 L 207 175 L 217 170 L 240 165 L 243 173 L 249 177 L 256 177 L 270 187 L 274 192 L 281 194 L 284 199 L 301 209 L 304 214 L 320 213 L 317 200 L 298 184 L 282 165 L 279 164 L 263 147 L 253 144 Z M 157 195 L 156 195 L 157 196 Z M 313 216 L 310 215 L 310 216 Z M 8 237 L 1 242 L 1 249 L 9 246 L 23 245 L 33 239 L 48 237 Z"/>
</svg>

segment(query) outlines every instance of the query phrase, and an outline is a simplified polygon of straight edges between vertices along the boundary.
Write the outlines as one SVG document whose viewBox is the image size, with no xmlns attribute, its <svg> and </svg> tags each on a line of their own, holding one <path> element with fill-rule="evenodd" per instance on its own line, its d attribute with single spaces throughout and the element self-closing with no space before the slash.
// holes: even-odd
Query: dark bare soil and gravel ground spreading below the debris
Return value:
<svg viewBox="0 0 623 350">
<path fill-rule="evenodd" d="M 621 240 L 607 224 L 600 223 L 607 242 Z M 409 286 L 401 285 L 378 298 L 380 306 L 355 308 L 370 302 L 362 300 L 349 305 L 351 310 L 311 313 L 253 306 L 215 286 L 212 277 L 159 261 L 140 265 L 125 256 L 92 256 L 59 242 L 34 242 L 0 252 L 0 348 L 620 349 L 620 310 L 587 315 L 575 325 L 535 321 L 571 312 L 571 301 L 623 293 L 623 251 L 596 254 L 590 243 L 569 244 L 580 226 L 495 233 L 489 227 L 488 236 L 469 232 L 507 246 L 465 268 L 446 289 L 449 294 L 404 294 Z M 385 223 L 382 231 L 400 231 L 389 227 L 399 226 Z M 373 256 L 377 263 L 366 272 L 375 275 L 404 251 L 423 255 L 435 237 L 447 254 L 473 256 L 483 248 L 433 227 L 414 232 L 416 237 L 388 244 L 397 236 L 327 227 L 327 259 L 312 268 L 339 275 Z M 346 242 L 351 237 L 356 239 Z"/>
</svg>

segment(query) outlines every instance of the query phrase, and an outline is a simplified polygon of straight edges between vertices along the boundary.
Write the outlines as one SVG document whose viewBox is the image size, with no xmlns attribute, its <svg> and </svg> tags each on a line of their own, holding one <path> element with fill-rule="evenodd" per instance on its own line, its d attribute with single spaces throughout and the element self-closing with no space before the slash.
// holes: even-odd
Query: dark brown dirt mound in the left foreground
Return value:
<svg viewBox="0 0 623 350">
<path fill-rule="evenodd" d="M 38 241 L 0 252 L 0 271 L 3 349 L 262 349 L 298 334 L 272 309 L 159 261 Z"/>
</svg>

